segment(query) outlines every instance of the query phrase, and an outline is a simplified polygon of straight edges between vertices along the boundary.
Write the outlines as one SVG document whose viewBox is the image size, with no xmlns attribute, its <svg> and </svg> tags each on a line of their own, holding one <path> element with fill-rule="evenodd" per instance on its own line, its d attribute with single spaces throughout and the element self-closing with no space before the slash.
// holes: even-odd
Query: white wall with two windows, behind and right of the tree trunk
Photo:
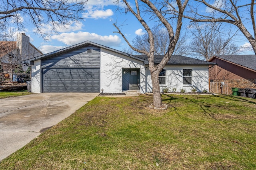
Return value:
<svg viewBox="0 0 256 170">
<path fill-rule="evenodd" d="M 204 89 L 209 92 L 208 66 L 165 66 L 164 69 L 166 69 L 166 84 L 160 85 L 160 92 L 165 87 L 176 88 L 177 92 L 180 92 L 181 88 L 185 89 L 186 92 L 191 92 L 192 87 L 196 88 L 197 92 L 202 92 Z M 192 69 L 192 85 L 183 84 L 183 69 Z M 147 92 L 152 92 L 152 80 L 148 68 L 146 75 Z"/>
</svg>

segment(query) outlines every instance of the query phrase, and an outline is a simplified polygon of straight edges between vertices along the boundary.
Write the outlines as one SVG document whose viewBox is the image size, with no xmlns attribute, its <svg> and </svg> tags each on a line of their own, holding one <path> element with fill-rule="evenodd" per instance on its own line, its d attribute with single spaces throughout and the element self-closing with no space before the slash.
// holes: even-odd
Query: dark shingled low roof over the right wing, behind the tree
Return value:
<svg viewBox="0 0 256 170">
<path fill-rule="evenodd" d="M 146 55 L 135 55 L 135 56 L 146 60 L 147 61 L 146 64 L 148 64 L 148 57 Z M 155 55 L 154 63 L 159 64 L 162 61 L 163 57 L 164 57 L 163 55 Z M 181 65 L 181 64 L 182 65 L 212 65 L 216 63 L 194 59 L 190 57 L 185 57 L 182 55 L 172 55 L 172 57 L 167 63 L 167 65 Z"/>
</svg>

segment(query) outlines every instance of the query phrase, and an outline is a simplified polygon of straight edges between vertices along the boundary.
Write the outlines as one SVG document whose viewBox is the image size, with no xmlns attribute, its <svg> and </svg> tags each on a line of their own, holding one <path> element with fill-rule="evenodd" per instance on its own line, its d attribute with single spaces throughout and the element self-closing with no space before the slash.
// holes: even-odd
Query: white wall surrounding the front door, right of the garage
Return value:
<svg viewBox="0 0 256 170">
<path fill-rule="evenodd" d="M 142 61 L 101 49 L 100 89 L 104 93 L 122 93 L 122 68 L 140 68 L 140 92 L 145 93 L 146 77 Z"/>
</svg>

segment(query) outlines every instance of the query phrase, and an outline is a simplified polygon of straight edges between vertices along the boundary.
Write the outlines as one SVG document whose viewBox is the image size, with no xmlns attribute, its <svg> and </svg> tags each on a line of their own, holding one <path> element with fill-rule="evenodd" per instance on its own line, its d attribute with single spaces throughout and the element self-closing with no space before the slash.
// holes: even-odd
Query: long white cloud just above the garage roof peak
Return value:
<svg viewBox="0 0 256 170">
<path fill-rule="evenodd" d="M 121 39 L 117 35 L 98 35 L 96 33 L 82 32 L 78 33 L 61 33 L 60 35 L 53 35 L 52 39 L 56 39 L 65 43 L 66 45 L 74 45 L 84 41 L 92 41 L 108 47 L 117 47 L 121 43 Z"/>
</svg>

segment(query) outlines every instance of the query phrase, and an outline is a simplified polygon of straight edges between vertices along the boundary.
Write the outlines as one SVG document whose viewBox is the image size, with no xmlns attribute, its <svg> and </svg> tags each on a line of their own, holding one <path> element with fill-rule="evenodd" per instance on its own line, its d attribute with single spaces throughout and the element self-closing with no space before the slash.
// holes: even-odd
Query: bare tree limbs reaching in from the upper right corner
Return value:
<svg viewBox="0 0 256 170">
<path fill-rule="evenodd" d="M 184 15 L 185 18 L 195 22 L 223 22 L 235 25 L 248 39 L 256 54 L 255 0 L 215 0 L 210 1 L 212 4 L 205 0 L 194 1 L 198 2 L 198 6 L 190 6 L 191 10 Z M 202 5 L 206 11 L 202 10 Z M 248 31 L 249 28 L 252 28 L 252 34 Z"/>
</svg>

